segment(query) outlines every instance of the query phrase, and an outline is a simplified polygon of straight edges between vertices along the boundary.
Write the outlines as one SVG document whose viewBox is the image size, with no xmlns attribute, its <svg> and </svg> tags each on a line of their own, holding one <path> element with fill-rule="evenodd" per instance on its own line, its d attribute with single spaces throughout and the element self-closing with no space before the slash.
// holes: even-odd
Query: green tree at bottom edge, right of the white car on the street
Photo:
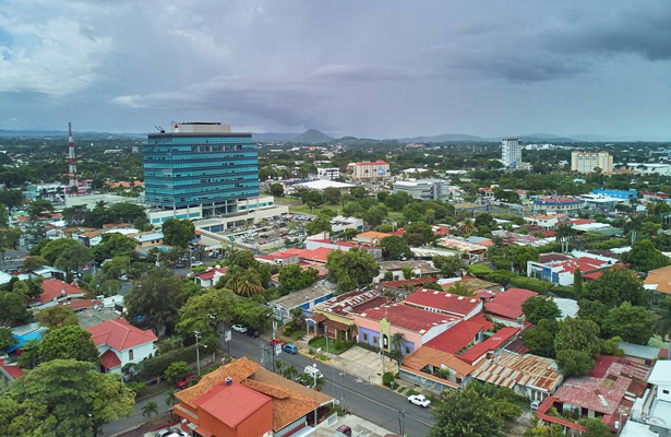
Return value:
<svg viewBox="0 0 671 437">
<path fill-rule="evenodd" d="M 498 437 L 503 435 L 503 420 L 494 402 L 470 385 L 462 390 L 448 390 L 438 402 L 431 437 Z"/>
</svg>

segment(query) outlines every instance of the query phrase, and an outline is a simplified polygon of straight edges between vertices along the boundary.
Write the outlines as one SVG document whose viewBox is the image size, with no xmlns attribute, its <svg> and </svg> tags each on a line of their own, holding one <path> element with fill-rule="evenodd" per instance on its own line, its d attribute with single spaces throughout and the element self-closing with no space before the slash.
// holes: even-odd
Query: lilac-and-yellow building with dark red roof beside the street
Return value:
<svg viewBox="0 0 671 437">
<path fill-rule="evenodd" d="M 352 312 L 359 343 L 391 352 L 392 338 L 403 334 L 402 352 L 410 354 L 429 340 L 455 326 L 462 318 L 442 315 L 403 304 L 383 305 Z"/>
</svg>

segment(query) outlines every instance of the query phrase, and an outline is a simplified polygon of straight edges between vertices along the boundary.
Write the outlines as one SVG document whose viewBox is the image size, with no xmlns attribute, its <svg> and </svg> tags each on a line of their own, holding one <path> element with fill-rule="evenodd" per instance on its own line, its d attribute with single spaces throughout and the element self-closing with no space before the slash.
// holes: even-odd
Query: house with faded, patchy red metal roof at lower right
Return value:
<svg viewBox="0 0 671 437">
<path fill-rule="evenodd" d="M 600 356 L 589 376 L 568 378 L 560 389 L 539 405 L 536 412 L 542 424 L 558 424 L 567 434 L 577 435 L 585 430 L 576 422 L 562 417 L 571 413 L 574 417 L 599 418 L 612 430 L 627 417 L 636 398 L 646 391 L 650 368 L 616 356 Z M 555 408 L 560 416 L 548 414 Z"/>
</svg>

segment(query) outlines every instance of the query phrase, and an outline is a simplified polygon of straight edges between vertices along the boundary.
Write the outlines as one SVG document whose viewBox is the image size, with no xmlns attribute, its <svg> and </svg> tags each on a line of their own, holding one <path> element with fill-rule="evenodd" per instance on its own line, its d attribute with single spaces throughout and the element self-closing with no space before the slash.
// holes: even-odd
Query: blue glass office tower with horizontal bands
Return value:
<svg viewBox="0 0 671 437">
<path fill-rule="evenodd" d="M 259 196 L 259 151 L 251 133 L 221 123 L 173 123 L 143 146 L 146 203 L 158 209 L 203 206 L 203 215 L 237 212 Z"/>
</svg>

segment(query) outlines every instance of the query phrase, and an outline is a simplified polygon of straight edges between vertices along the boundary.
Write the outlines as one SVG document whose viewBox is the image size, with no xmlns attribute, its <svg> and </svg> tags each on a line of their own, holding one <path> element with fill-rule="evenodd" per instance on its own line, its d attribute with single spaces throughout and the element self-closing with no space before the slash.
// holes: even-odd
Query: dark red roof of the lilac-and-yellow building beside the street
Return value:
<svg viewBox="0 0 671 437">
<path fill-rule="evenodd" d="M 358 316 L 375 321 L 385 317 L 396 327 L 420 333 L 424 333 L 435 326 L 459 320 L 457 316 L 441 315 L 400 304 L 369 308 L 358 312 Z"/>
</svg>

